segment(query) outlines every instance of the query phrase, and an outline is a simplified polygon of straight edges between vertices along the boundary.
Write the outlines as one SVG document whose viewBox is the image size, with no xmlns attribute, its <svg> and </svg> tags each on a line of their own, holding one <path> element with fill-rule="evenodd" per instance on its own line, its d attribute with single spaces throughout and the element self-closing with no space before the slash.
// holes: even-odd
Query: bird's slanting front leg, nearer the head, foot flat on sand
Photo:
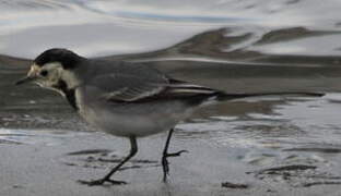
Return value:
<svg viewBox="0 0 341 196">
<path fill-rule="evenodd" d="M 119 164 L 117 164 L 108 174 L 106 174 L 103 179 L 96 180 L 96 181 L 79 181 L 82 184 L 86 184 L 89 186 L 94 186 L 94 185 L 102 185 L 105 182 L 111 183 L 111 184 L 127 184 L 124 181 L 114 181 L 110 180 L 110 176 L 119 170 L 129 159 L 131 159 L 137 152 L 138 152 L 138 143 L 136 137 L 129 137 L 130 139 L 130 154 L 128 157 L 126 157 Z"/>
</svg>

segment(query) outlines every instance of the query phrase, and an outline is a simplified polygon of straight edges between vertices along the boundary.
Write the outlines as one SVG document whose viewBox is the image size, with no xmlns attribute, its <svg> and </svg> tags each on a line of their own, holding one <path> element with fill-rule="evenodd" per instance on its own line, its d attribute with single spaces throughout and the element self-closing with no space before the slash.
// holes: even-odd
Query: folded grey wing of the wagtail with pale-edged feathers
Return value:
<svg viewBox="0 0 341 196">
<path fill-rule="evenodd" d="M 157 70 L 137 65 L 120 68 L 93 77 L 87 85 L 99 89 L 107 101 L 138 102 L 151 99 L 188 98 L 211 95 L 216 90 L 172 79 Z"/>
</svg>

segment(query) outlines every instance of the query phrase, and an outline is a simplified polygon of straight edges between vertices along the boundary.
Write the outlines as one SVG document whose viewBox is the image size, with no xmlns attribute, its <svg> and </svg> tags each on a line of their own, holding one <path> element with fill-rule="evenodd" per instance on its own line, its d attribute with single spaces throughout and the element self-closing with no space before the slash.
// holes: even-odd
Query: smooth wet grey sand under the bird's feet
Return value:
<svg viewBox="0 0 341 196">
<path fill-rule="evenodd" d="M 170 159 L 169 182 L 164 184 L 158 163 L 164 134 L 139 140 L 138 156 L 115 175 L 129 184 L 89 187 L 77 181 L 96 179 L 107 172 L 127 152 L 126 139 L 101 133 L 37 131 L 34 134 L 42 133 L 47 138 L 54 137 L 54 143 L 40 139 L 35 144 L 1 144 L 1 195 L 341 194 L 341 176 L 326 174 L 319 171 L 320 167 L 291 164 L 284 169 L 255 170 L 233 158 L 234 150 L 212 146 L 204 139 L 178 136 L 172 142 L 172 150 L 187 149 L 189 154 Z M 226 182 L 243 186 L 224 187 L 222 184 Z M 324 182 L 326 185 L 318 184 Z"/>
</svg>

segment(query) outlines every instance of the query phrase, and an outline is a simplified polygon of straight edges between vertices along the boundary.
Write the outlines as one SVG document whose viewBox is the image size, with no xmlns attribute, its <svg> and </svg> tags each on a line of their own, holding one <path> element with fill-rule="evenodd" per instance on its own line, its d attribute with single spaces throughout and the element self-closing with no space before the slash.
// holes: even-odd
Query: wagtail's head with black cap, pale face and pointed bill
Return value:
<svg viewBox="0 0 341 196">
<path fill-rule="evenodd" d="M 45 88 L 58 88 L 63 83 L 72 88 L 79 83 L 74 69 L 82 60 L 82 57 L 67 49 L 46 50 L 34 60 L 27 75 L 15 84 L 31 82 Z"/>
</svg>

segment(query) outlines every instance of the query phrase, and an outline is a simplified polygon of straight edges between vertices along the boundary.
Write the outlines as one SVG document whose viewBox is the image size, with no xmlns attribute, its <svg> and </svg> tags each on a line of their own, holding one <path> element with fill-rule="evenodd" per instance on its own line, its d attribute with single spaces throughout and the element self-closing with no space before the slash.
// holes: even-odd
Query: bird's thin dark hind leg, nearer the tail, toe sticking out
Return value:
<svg viewBox="0 0 341 196">
<path fill-rule="evenodd" d="M 163 150 L 163 155 L 162 155 L 162 169 L 163 169 L 163 181 L 166 182 L 167 181 L 167 175 L 169 174 L 169 163 L 168 163 L 168 160 L 167 160 L 167 157 L 178 157 L 180 156 L 183 152 L 188 152 L 187 150 L 180 150 L 180 151 L 177 151 L 177 152 L 173 152 L 173 154 L 169 154 L 168 152 L 168 146 L 169 146 L 169 142 L 170 142 L 170 137 L 173 135 L 173 132 L 174 132 L 174 128 L 169 130 L 169 133 L 168 133 L 168 136 L 167 136 L 167 140 L 166 140 L 166 145 L 165 145 L 165 148 Z"/>
</svg>

